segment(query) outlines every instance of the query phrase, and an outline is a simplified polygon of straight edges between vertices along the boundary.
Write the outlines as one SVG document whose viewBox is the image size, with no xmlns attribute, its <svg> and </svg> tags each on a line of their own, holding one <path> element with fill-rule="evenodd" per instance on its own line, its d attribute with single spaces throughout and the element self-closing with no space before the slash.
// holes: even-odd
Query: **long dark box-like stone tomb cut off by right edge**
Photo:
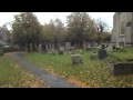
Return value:
<svg viewBox="0 0 133 100">
<path fill-rule="evenodd" d="M 130 74 L 133 73 L 133 62 L 117 62 L 110 66 L 111 74 Z"/>
</svg>

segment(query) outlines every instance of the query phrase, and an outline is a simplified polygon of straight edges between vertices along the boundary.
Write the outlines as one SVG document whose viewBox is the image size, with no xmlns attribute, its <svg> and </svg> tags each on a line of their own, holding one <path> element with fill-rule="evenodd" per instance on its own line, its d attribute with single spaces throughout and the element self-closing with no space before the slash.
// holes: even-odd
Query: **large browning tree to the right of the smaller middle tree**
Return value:
<svg viewBox="0 0 133 100">
<path fill-rule="evenodd" d="M 72 12 L 66 18 L 66 39 L 75 42 L 78 47 L 83 46 L 83 41 L 90 40 L 91 33 L 95 32 L 94 21 L 86 12 Z"/>
</svg>

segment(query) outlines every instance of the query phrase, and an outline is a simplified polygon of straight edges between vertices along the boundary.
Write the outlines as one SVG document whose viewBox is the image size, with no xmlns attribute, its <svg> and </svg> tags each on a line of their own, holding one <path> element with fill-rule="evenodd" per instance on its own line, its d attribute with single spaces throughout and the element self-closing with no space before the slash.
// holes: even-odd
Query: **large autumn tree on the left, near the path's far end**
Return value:
<svg viewBox="0 0 133 100">
<path fill-rule="evenodd" d="M 21 12 L 14 16 L 12 23 L 12 39 L 13 43 L 20 47 L 27 47 L 30 51 L 30 43 L 32 50 L 37 50 L 41 36 L 41 26 L 37 17 L 32 12 Z"/>
</svg>

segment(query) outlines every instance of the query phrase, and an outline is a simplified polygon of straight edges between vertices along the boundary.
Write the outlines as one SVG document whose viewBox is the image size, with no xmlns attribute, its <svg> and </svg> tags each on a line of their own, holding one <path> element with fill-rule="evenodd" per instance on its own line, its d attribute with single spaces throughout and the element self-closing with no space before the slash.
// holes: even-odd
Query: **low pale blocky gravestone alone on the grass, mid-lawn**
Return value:
<svg viewBox="0 0 133 100">
<path fill-rule="evenodd" d="M 83 58 L 81 54 L 71 54 L 72 64 L 83 63 Z"/>
</svg>

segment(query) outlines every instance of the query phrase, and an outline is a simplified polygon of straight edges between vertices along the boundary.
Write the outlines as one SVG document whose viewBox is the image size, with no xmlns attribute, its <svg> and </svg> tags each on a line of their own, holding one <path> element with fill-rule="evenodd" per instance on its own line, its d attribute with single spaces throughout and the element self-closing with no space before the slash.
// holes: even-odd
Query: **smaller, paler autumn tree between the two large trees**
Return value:
<svg viewBox="0 0 133 100">
<path fill-rule="evenodd" d="M 57 18 L 55 20 L 51 20 L 48 24 L 42 27 L 42 40 L 51 42 L 55 49 L 58 49 L 58 44 L 62 44 L 64 41 L 65 28 L 63 22 Z"/>
</svg>

